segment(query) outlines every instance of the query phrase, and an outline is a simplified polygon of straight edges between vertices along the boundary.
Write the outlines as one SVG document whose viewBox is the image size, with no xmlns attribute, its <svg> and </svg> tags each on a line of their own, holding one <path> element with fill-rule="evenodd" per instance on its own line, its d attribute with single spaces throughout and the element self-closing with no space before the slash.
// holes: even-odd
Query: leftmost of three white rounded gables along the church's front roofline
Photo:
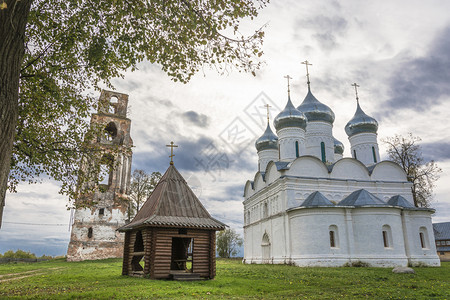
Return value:
<svg viewBox="0 0 450 300">
<path fill-rule="evenodd" d="M 326 165 L 317 157 L 301 156 L 288 165 L 286 175 L 328 178 Z"/>
</svg>

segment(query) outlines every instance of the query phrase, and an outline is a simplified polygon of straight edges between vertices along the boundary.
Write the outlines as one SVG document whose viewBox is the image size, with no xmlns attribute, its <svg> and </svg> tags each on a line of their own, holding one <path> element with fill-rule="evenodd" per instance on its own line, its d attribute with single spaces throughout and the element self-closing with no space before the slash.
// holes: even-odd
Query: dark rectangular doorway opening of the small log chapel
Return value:
<svg viewBox="0 0 450 300">
<path fill-rule="evenodd" d="M 194 239 L 172 238 L 172 260 L 170 270 L 192 272 Z"/>
</svg>

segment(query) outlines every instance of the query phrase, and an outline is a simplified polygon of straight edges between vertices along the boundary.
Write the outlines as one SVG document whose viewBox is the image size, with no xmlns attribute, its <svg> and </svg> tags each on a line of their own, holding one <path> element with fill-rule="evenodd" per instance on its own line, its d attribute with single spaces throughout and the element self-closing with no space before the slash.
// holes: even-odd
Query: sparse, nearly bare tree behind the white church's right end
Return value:
<svg viewBox="0 0 450 300">
<path fill-rule="evenodd" d="M 389 158 L 399 164 L 412 182 L 414 205 L 416 207 L 429 207 L 433 200 L 433 188 L 439 179 L 442 169 L 431 160 L 426 162 L 422 156 L 420 137 L 411 133 L 407 137 L 395 135 L 383 142 L 388 146 Z"/>
</svg>

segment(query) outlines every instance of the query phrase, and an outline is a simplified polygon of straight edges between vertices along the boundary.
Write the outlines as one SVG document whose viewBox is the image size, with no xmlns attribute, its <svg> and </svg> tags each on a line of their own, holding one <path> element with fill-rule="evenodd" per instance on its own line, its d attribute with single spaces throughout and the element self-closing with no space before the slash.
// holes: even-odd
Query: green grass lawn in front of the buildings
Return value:
<svg viewBox="0 0 450 300">
<path fill-rule="evenodd" d="M 120 259 L 53 260 L 0 265 L 0 298 L 450 299 L 450 263 L 415 271 L 243 265 L 219 259 L 214 280 L 174 282 L 121 276 Z M 28 277 L 8 280 L 19 276 Z"/>
</svg>

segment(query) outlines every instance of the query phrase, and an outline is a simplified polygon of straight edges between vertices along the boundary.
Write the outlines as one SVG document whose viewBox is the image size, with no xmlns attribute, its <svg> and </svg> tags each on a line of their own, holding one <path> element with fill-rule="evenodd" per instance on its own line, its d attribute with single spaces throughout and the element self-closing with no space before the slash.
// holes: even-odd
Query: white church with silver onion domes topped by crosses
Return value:
<svg viewBox="0 0 450 300">
<path fill-rule="evenodd" d="M 307 62 L 306 62 L 307 63 Z M 311 93 L 288 101 L 257 139 L 245 185 L 244 262 L 337 267 L 440 266 L 429 208 L 413 205 L 396 163 L 380 161 L 377 121 L 361 109 L 345 126 L 352 157 L 333 137 L 335 115 Z M 287 77 L 289 80 L 289 77 Z"/>
</svg>

